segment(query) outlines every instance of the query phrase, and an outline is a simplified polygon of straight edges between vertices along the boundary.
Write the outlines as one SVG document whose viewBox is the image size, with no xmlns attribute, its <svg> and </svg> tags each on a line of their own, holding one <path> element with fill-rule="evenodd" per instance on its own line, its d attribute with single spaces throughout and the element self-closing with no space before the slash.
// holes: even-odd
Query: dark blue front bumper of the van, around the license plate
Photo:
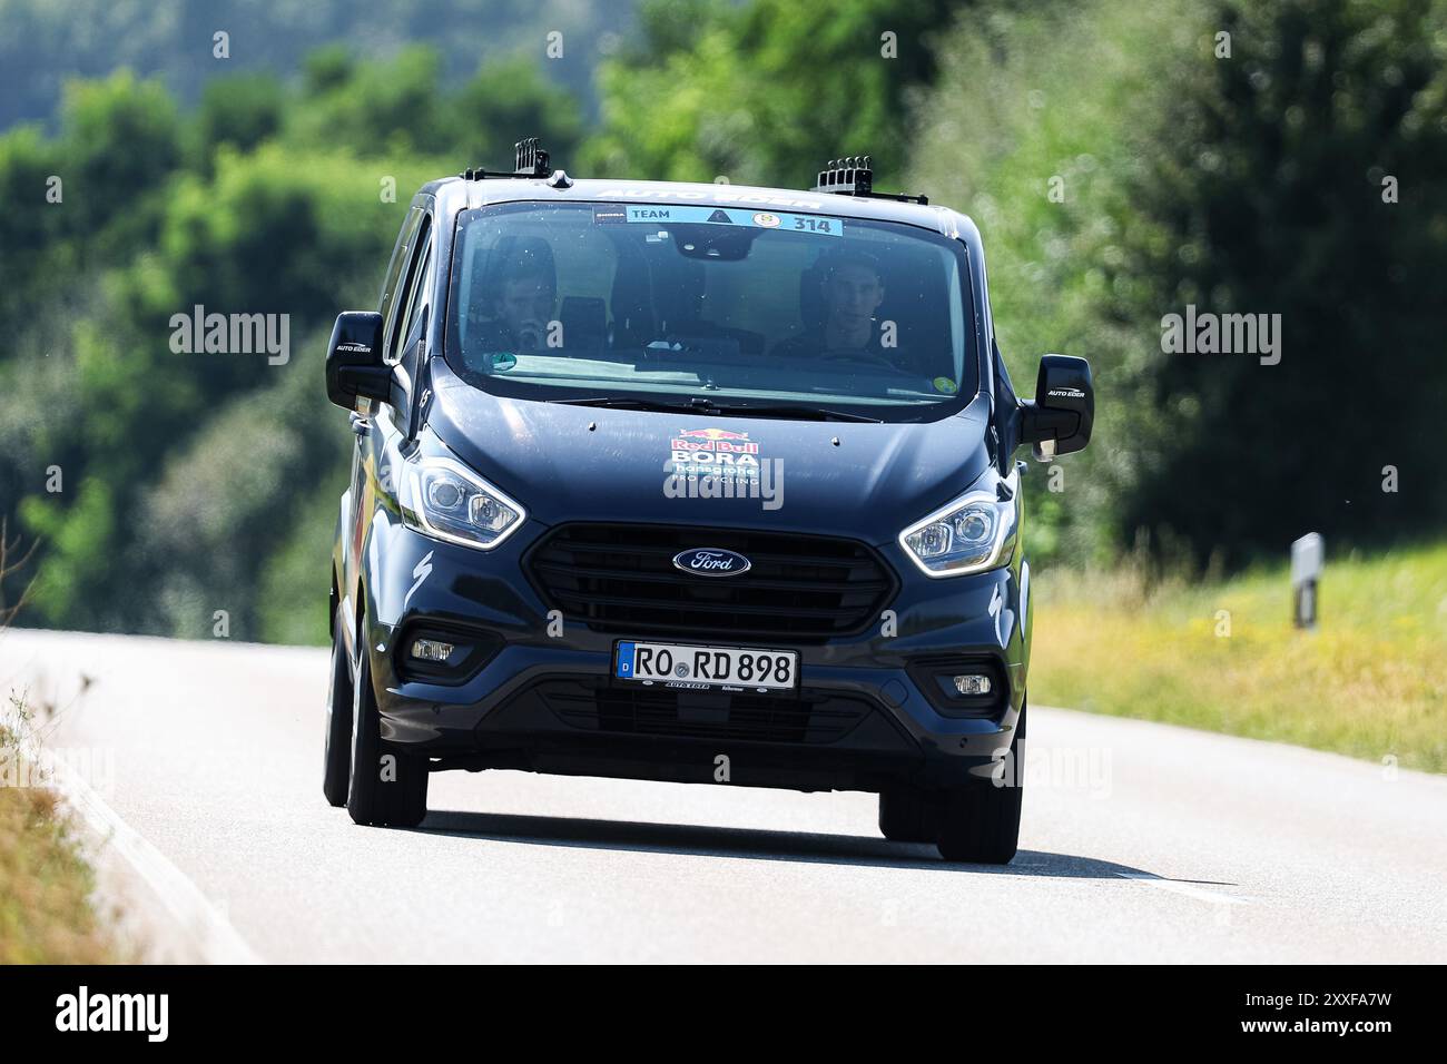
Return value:
<svg viewBox="0 0 1447 1064">
<path fill-rule="evenodd" d="M 363 634 L 386 740 L 441 767 L 800 790 L 948 786 L 993 774 L 1010 746 L 1029 663 L 1029 567 L 1019 557 L 990 573 L 932 580 L 899 544 L 878 546 L 900 585 L 880 624 L 787 647 L 800 654 L 799 701 L 828 708 L 800 719 L 805 706 L 789 696 L 761 696 L 783 699 L 778 711 L 731 709 L 728 696 L 689 692 L 670 705 L 658 692 L 642 699 L 619 685 L 614 647 L 629 633 L 564 622 L 525 576 L 525 556 L 544 531 L 530 521 L 495 552 L 478 552 L 378 512 L 363 552 Z M 496 650 L 460 683 L 418 679 L 402 656 L 423 624 L 476 633 Z M 719 636 L 716 644 L 750 640 Z M 1007 686 L 1000 705 L 975 717 L 942 711 L 917 682 L 919 663 L 941 657 L 996 663 Z M 760 719 L 764 727 L 745 727 Z"/>
</svg>

